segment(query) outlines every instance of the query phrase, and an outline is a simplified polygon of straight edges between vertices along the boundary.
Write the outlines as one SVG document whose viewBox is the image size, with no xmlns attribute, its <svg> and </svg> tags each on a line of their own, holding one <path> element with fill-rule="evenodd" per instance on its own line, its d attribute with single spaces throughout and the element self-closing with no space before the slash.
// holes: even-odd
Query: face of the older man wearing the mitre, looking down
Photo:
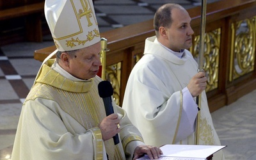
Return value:
<svg viewBox="0 0 256 160">
<path fill-rule="evenodd" d="M 76 51 L 74 57 L 68 61 L 67 72 L 79 79 L 91 79 L 99 71 L 100 63 L 100 42 L 84 49 Z"/>
</svg>

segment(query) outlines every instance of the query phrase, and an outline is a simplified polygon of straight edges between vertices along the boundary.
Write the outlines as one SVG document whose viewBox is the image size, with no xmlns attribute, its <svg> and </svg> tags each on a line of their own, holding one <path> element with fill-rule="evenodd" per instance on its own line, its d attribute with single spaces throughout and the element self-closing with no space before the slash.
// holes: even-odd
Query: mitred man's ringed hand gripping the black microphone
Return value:
<svg viewBox="0 0 256 160">
<path fill-rule="evenodd" d="M 100 122 L 98 127 L 100 128 L 103 141 L 109 140 L 120 132 L 119 122 L 118 115 L 115 113 L 106 116 L 102 122 Z"/>
</svg>

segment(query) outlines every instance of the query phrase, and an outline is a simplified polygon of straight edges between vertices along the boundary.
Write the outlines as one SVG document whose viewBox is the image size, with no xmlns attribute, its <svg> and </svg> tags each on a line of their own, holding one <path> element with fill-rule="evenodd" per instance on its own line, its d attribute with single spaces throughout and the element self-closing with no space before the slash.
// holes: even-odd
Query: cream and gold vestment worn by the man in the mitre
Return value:
<svg viewBox="0 0 256 160">
<path fill-rule="evenodd" d="M 135 147 L 144 144 L 124 109 L 113 108 L 120 118 L 120 143 L 102 140 L 98 127 L 106 117 L 95 77 L 72 81 L 42 65 L 20 114 L 12 159 L 131 159 Z M 49 65 L 49 66 L 48 66 Z"/>
</svg>

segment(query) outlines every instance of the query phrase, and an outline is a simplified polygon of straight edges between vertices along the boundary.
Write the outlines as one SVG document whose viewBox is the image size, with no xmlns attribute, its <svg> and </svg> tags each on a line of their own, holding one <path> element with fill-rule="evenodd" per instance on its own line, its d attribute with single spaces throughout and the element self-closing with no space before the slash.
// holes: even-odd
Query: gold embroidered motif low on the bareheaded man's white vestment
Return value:
<svg viewBox="0 0 256 160">
<path fill-rule="evenodd" d="M 200 118 L 200 140 L 204 141 L 204 145 L 214 145 L 213 129 L 210 124 L 207 123 L 206 118 Z"/>
</svg>

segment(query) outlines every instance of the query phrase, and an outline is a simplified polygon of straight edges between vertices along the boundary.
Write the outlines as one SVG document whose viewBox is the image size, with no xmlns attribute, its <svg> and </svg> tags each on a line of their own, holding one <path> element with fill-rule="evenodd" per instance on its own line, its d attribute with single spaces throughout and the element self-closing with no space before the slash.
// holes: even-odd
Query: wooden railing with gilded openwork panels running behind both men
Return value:
<svg viewBox="0 0 256 160">
<path fill-rule="evenodd" d="M 205 62 L 210 111 L 231 104 L 256 89 L 256 1 L 225 0 L 207 4 Z M 200 6 L 188 10 L 195 31 L 190 51 L 198 55 Z M 106 78 L 112 82 L 116 102 L 122 106 L 132 67 L 143 56 L 145 39 L 154 36 L 153 20 L 101 33 L 108 39 Z M 54 51 L 51 46 L 35 51 L 36 60 Z M 243 106 L 242 106 L 243 107 Z"/>
</svg>

